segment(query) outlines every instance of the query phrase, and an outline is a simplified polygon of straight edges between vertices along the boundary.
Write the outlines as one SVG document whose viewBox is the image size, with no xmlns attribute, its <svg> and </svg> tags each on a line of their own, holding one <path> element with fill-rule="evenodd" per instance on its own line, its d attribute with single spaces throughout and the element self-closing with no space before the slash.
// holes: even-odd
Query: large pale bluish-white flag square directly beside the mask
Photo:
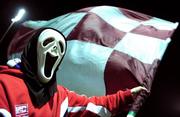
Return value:
<svg viewBox="0 0 180 117">
<path fill-rule="evenodd" d="M 58 84 L 87 96 L 105 95 L 104 69 L 111 52 L 111 48 L 101 45 L 68 41 L 67 53 L 57 73 Z"/>
</svg>

